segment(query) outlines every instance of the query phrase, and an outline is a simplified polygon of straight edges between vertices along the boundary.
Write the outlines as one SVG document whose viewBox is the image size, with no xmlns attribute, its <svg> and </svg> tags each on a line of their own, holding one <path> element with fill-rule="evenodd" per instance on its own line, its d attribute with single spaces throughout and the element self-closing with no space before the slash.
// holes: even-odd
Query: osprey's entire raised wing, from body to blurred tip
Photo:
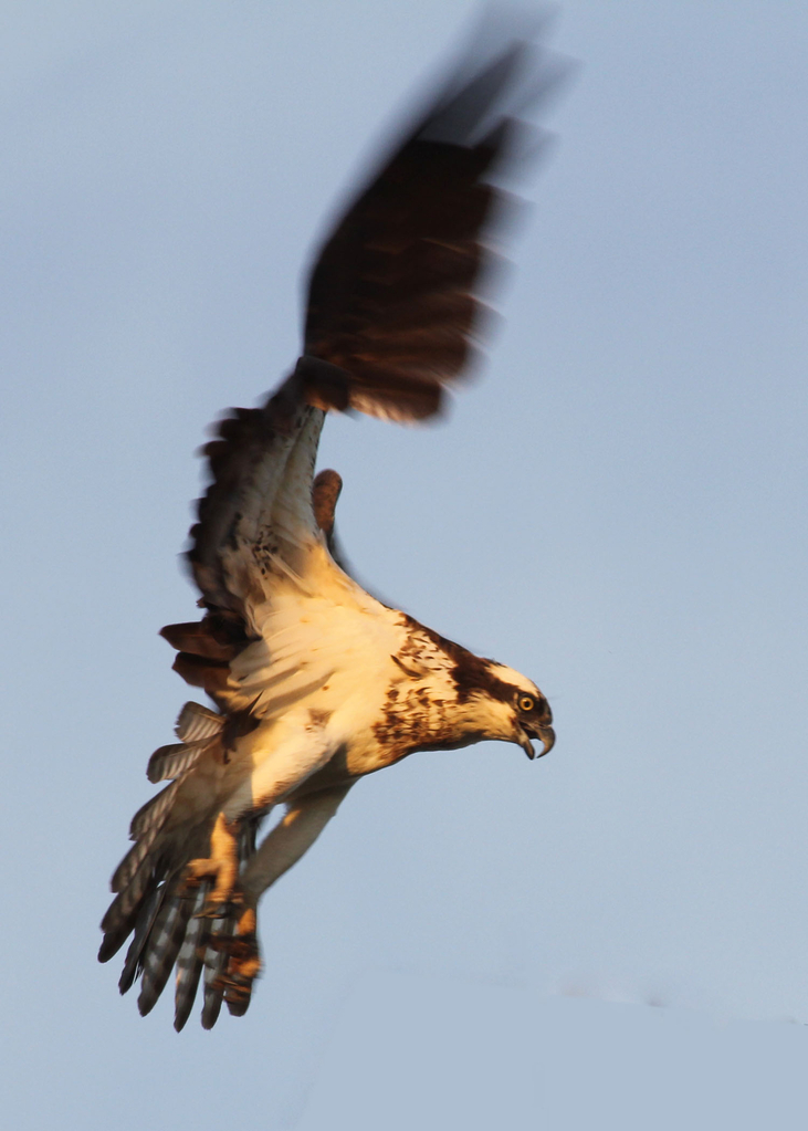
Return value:
<svg viewBox="0 0 808 1131">
<path fill-rule="evenodd" d="M 427 417 L 467 368 L 493 231 L 511 200 L 490 178 L 537 148 L 536 131 L 512 114 L 557 75 L 535 51 L 518 41 L 488 66 L 467 61 L 444 85 L 323 243 L 294 373 L 262 408 L 224 420 L 205 449 L 212 482 L 189 560 L 223 623 L 243 622 L 244 602 L 266 595 L 272 561 L 296 568 L 323 526 L 312 503 L 322 411 Z"/>
</svg>

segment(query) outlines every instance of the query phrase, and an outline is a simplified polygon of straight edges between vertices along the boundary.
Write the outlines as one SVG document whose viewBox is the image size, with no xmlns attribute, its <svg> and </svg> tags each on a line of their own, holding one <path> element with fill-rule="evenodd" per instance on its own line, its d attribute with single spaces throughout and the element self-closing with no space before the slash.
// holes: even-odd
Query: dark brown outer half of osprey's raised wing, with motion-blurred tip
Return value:
<svg viewBox="0 0 808 1131">
<path fill-rule="evenodd" d="M 469 364 L 492 230 L 510 199 L 489 179 L 528 148 L 523 123 L 506 111 L 547 86 L 531 53 L 516 43 L 438 97 L 323 244 L 305 353 L 338 366 L 342 380 L 312 381 L 311 403 L 420 420 Z"/>
</svg>

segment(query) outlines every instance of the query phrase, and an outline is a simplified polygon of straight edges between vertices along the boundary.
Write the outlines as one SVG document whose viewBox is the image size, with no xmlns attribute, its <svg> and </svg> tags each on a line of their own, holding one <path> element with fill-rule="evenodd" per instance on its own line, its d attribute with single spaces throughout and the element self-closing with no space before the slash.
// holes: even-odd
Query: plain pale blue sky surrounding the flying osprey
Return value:
<svg viewBox="0 0 808 1131">
<path fill-rule="evenodd" d="M 551 756 L 360 783 L 243 1020 L 95 962 L 185 685 L 194 449 L 466 0 L 7 5 L 8 1125 L 805 1125 L 808 9 L 568 0 L 504 328 L 448 423 L 332 421 L 358 576 L 533 677 Z"/>
</svg>

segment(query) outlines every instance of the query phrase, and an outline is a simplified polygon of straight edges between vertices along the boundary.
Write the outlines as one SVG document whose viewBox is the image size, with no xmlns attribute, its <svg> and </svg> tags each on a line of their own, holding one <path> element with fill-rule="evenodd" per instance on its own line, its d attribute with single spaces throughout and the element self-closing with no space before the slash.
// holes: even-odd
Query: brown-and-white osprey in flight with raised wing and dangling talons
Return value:
<svg viewBox="0 0 808 1131">
<path fill-rule="evenodd" d="M 535 740 L 542 753 L 555 741 L 535 683 L 350 577 L 333 535 L 341 481 L 314 476 L 327 413 L 433 416 L 479 337 L 486 241 L 510 199 L 490 178 L 532 145 L 512 114 L 553 76 L 521 41 L 462 70 L 324 242 L 294 372 L 261 408 L 223 420 L 203 449 L 210 485 L 188 559 L 205 615 L 162 634 L 174 670 L 216 709 L 186 703 L 179 741 L 149 760 L 149 780 L 171 784 L 132 820 L 98 955 L 133 933 L 120 990 L 141 978 L 141 1013 L 176 967 L 177 1030 L 200 979 L 206 1028 L 223 1001 L 245 1012 L 259 898 L 358 778 L 416 751 L 499 739 L 533 758 Z"/>
</svg>

